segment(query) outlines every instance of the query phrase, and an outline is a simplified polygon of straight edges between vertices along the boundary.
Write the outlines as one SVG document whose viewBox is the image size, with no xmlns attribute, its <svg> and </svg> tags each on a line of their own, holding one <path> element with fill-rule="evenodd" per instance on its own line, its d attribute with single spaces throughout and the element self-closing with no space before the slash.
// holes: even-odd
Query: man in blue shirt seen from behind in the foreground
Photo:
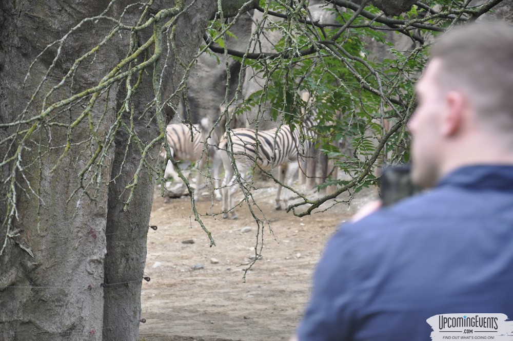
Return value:
<svg viewBox="0 0 513 341">
<path fill-rule="evenodd" d="M 432 188 L 341 226 L 300 341 L 429 340 L 438 314 L 513 318 L 513 28 L 453 29 L 431 52 L 408 126 L 412 179 Z"/>
</svg>

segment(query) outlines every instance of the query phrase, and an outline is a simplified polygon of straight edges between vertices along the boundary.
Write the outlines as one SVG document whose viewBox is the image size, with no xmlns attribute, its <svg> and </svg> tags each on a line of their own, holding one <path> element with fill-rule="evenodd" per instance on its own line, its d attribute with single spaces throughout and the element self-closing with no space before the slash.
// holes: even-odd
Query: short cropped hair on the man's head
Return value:
<svg viewBox="0 0 513 341">
<path fill-rule="evenodd" d="M 462 90 L 481 118 L 513 129 L 512 26 L 473 23 L 453 28 L 433 45 L 431 58 L 442 62 L 442 89 Z"/>
</svg>

